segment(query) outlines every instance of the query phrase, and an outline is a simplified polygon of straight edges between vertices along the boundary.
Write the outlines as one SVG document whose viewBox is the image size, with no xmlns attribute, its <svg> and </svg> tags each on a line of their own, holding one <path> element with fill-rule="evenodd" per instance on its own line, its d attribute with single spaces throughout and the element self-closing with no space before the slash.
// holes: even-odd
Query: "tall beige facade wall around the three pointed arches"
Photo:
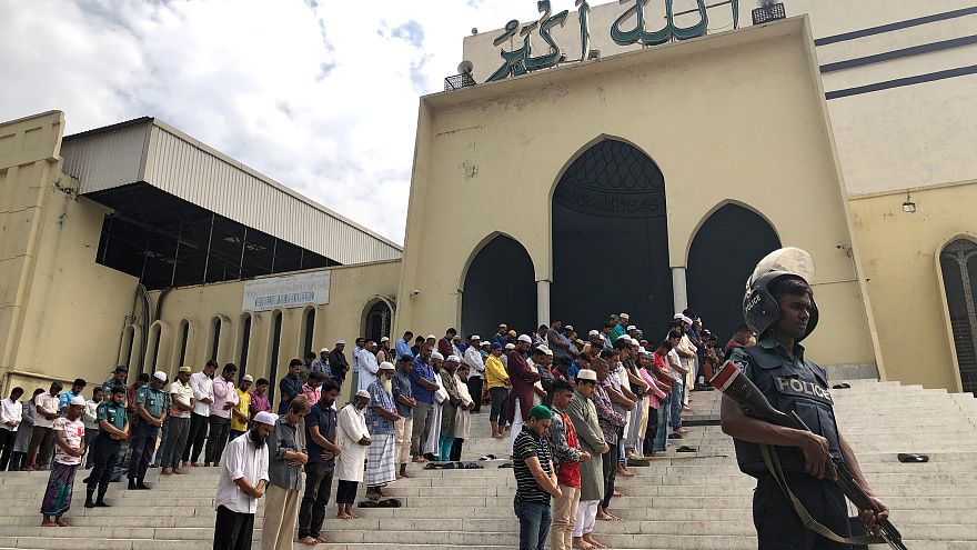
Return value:
<svg viewBox="0 0 977 550">
<path fill-rule="evenodd" d="M 825 328 L 809 340 L 813 357 L 874 362 L 807 32 L 795 19 L 423 98 L 397 332 L 459 322 L 464 268 L 500 229 L 526 248 L 536 280 L 551 280 L 553 189 L 608 136 L 664 173 L 673 267 L 718 204 L 746 204 L 815 258 Z M 481 217 L 455 207 L 486 192 L 521 204 Z"/>
</svg>

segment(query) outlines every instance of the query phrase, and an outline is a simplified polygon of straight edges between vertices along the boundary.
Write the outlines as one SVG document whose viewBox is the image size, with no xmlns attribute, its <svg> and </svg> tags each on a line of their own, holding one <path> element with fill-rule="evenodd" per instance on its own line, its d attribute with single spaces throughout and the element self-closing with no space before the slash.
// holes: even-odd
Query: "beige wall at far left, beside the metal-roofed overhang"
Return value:
<svg viewBox="0 0 977 550">
<path fill-rule="evenodd" d="M 94 261 L 105 210 L 59 171 L 62 129 L 57 111 L 0 124 L 0 372 L 28 392 L 108 378 L 135 299 Z"/>
</svg>

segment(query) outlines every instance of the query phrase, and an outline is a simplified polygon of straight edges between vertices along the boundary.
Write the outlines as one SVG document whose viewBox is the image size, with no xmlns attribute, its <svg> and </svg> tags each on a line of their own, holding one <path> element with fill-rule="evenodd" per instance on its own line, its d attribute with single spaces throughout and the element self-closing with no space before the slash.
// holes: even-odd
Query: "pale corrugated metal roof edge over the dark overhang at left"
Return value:
<svg viewBox="0 0 977 550">
<path fill-rule="evenodd" d="M 403 248 L 152 118 L 64 137 L 79 193 L 145 182 L 340 263 L 392 260 Z"/>
</svg>

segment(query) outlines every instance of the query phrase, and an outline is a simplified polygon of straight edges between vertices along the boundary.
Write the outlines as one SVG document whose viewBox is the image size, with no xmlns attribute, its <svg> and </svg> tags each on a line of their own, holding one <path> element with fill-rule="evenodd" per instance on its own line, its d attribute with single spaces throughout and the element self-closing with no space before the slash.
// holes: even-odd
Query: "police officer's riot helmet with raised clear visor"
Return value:
<svg viewBox="0 0 977 550">
<path fill-rule="evenodd" d="M 756 264 L 753 274 L 746 280 L 743 318 L 758 337 L 762 337 L 780 317 L 780 307 L 769 289 L 784 278 L 799 279 L 809 283 L 814 278 L 814 260 L 810 254 L 793 247 L 775 250 Z M 797 341 L 804 340 L 814 332 L 817 319 L 817 303 L 812 297 L 810 320 L 807 322 L 804 336 Z"/>
</svg>

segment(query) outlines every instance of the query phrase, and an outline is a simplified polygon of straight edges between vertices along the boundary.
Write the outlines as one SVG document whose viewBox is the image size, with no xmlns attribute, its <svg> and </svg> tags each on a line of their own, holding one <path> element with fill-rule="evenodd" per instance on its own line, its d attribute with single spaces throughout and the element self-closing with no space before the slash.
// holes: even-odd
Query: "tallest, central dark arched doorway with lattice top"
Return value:
<svg viewBox="0 0 977 550">
<path fill-rule="evenodd" d="M 566 169 L 552 208 L 552 317 L 585 331 L 626 311 L 646 333 L 664 331 L 672 273 L 665 178 L 655 162 L 623 141 L 600 141 Z"/>
</svg>

